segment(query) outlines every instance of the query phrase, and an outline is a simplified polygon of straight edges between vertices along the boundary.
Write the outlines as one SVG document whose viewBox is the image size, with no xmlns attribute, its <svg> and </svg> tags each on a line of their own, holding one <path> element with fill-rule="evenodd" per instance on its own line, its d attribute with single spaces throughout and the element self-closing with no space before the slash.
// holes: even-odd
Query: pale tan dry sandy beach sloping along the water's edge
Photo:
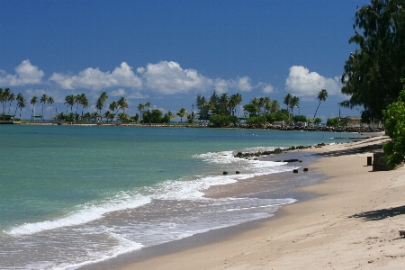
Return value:
<svg viewBox="0 0 405 270">
<path fill-rule="evenodd" d="M 309 169 L 328 177 L 302 188 L 316 198 L 286 205 L 254 229 L 117 269 L 401 269 L 405 167 L 366 166 L 370 146 L 386 139 L 306 149 L 320 155 Z"/>
</svg>

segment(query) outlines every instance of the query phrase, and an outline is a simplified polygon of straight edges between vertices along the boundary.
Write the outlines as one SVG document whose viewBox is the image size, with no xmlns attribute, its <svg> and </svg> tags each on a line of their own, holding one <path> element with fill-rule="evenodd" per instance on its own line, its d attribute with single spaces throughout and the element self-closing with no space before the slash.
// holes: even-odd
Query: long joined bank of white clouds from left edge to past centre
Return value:
<svg viewBox="0 0 405 270">
<path fill-rule="evenodd" d="M 86 94 L 94 97 L 98 96 L 100 90 L 105 91 L 110 88 L 111 96 L 126 96 L 133 99 L 148 98 L 149 93 L 164 96 L 215 90 L 218 94 L 224 94 L 229 92 L 229 89 L 251 92 L 256 88 L 262 88 L 264 93 L 273 92 L 272 85 L 263 83 L 252 85 L 249 76 L 212 79 L 202 76 L 195 69 L 182 68 L 179 63 L 174 61 L 149 63 L 145 67 L 137 67 L 136 70 L 133 70 L 126 62 L 122 62 L 112 71 L 87 67 L 73 75 L 55 72 L 49 76 L 48 80 L 42 80 L 43 76 L 43 71 L 32 66 L 30 60 L 27 59 L 15 67 L 14 75 L 0 70 L 0 85 L 48 84 L 52 88 L 58 89 L 60 96 L 66 95 L 67 92 L 71 94 L 82 91 L 82 89 L 89 89 L 90 91 L 86 91 Z"/>
</svg>

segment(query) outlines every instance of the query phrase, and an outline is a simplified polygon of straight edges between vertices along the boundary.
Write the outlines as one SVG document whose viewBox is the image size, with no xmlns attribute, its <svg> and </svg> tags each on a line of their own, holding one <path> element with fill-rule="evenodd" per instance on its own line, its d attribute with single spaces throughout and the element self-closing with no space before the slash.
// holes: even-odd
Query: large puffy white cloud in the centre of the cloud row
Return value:
<svg viewBox="0 0 405 270">
<path fill-rule="evenodd" d="M 191 90 L 204 92 L 211 88 L 211 79 L 194 69 L 183 69 L 176 62 L 160 61 L 137 69 L 145 85 L 161 94 L 185 94 Z"/>
</svg>

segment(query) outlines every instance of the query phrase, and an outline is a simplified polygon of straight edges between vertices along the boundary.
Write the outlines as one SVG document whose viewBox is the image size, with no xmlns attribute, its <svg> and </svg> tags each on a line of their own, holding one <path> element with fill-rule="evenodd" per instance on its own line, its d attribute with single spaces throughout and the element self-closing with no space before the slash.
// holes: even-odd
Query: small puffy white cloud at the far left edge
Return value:
<svg viewBox="0 0 405 270">
<path fill-rule="evenodd" d="M 15 85 L 37 85 L 41 83 L 44 73 L 36 66 L 32 66 L 30 60 L 23 62 L 15 67 L 15 74 L 7 74 L 4 70 L 0 70 L 0 85 L 15 86 Z"/>
</svg>

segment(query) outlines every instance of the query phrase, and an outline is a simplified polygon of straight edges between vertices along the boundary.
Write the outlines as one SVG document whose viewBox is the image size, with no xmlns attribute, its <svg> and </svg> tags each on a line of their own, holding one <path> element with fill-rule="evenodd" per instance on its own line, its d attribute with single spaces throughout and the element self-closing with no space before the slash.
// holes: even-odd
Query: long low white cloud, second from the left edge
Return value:
<svg viewBox="0 0 405 270">
<path fill-rule="evenodd" d="M 80 71 L 77 75 L 68 76 L 65 74 L 54 73 L 49 81 L 54 81 L 64 89 L 94 89 L 123 86 L 131 88 L 140 88 L 142 81 L 136 76 L 126 62 L 122 62 L 120 67 L 115 67 L 112 72 L 103 72 L 99 68 L 88 67 Z"/>
</svg>

